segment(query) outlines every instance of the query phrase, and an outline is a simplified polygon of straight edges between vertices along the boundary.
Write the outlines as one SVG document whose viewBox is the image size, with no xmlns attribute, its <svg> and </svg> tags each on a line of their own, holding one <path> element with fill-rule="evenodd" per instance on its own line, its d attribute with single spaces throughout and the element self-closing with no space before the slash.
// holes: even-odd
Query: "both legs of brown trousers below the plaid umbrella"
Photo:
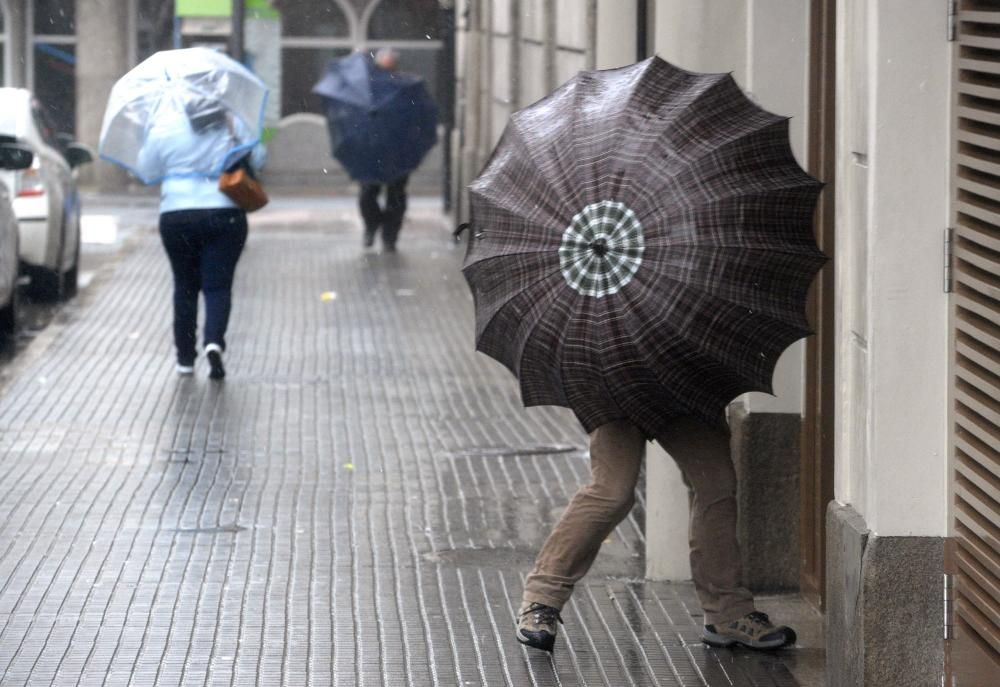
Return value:
<svg viewBox="0 0 1000 687">
<path fill-rule="evenodd" d="M 729 433 L 685 417 L 671 422 L 656 440 L 677 462 L 691 492 L 691 576 L 706 624 L 752 612 L 753 596 L 742 586 Z M 591 482 L 570 501 L 538 553 L 525 581 L 524 601 L 561 609 L 569 600 L 601 543 L 632 509 L 645 446 L 642 433 L 628 422 L 612 422 L 591 433 Z"/>
</svg>

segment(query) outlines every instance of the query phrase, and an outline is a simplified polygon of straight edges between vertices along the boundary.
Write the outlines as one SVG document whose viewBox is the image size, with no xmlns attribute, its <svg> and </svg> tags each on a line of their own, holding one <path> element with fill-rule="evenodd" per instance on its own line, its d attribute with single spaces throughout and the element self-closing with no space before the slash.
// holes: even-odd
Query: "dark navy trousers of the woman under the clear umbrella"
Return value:
<svg viewBox="0 0 1000 687">
<path fill-rule="evenodd" d="M 247 216 L 238 209 L 177 210 L 160 215 L 160 237 L 174 272 L 174 344 L 177 362 L 197 356 L 198 294 L 205 296 L 204 343 L 226 348 L 236 263 L 247 240 Z"/>
</svg>

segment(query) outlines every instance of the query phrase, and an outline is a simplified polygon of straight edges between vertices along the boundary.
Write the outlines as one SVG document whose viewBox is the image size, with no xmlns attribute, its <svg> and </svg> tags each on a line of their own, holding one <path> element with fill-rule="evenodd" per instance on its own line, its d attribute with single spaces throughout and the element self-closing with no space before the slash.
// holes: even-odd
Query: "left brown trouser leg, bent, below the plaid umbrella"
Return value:
<svg viewBox="0 0 1000 687">
<path fill-rule="evenodd" d="M 591 482 L 582 487 L 545 541 L 524 585 L 524 601 L 561 609 L 601 544 L 632 509 L 645 452 L 642 433 L 612 422 L 590 435 Z"/>
</svg>

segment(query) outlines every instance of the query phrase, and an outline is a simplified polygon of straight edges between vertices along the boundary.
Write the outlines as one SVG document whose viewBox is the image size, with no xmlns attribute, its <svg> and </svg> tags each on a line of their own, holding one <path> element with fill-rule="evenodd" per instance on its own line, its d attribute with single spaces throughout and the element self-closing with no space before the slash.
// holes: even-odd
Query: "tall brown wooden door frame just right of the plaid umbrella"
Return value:
<svg viewBox="0 0 1000 687">
<path fill-rule="evenodd" d="M 811 0 L 809 27 L 809 173 L 826 183 L 816 208 L 816 240 L 834 255 L 836 185 L 836 0 Z M 805 408 L 800 458 L 800 573 L 802 595 L 822 609 L 826 595 L 826 507 L 833 499 L 834 466 L 834 270 L 830 263 L 813 283 L 806 341 Z"/>
</svg>

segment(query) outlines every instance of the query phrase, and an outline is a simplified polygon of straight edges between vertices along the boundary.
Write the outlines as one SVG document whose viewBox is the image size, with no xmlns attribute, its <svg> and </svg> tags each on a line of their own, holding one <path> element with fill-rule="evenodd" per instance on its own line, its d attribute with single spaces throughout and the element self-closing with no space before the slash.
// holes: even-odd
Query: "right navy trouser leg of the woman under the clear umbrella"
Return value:
<svg viewBox="0 0 1000 687">
<path fill-rule="evenodd" d="M 232 309 L 236 263 L 247 239 L 246 213 L 242 210 L 211 210 L 204 221 L 201 281 L 205 295 L 204 344 L 226 349 L 226 328 Z"/>
</svg>

